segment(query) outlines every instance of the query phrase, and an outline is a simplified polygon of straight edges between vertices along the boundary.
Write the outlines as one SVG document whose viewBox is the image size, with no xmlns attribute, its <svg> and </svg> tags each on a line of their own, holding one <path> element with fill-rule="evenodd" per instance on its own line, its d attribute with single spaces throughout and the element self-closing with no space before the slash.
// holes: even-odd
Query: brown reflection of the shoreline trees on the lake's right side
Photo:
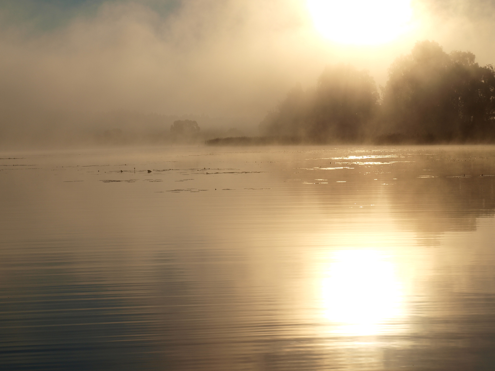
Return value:
<svg viewBox="0 0 495 371">
<path fill-rule="evenodd" d="M 335 153 L 326 152 L 321 157 L 335 157 Z M 375 205 L 377 210 L 386 205 L 386 212 L 392 214 L 396 225 L 424 236 L 473 231 L 479 218 L 495 213 L 493 147 L 399 147 L 392 152 L 390 148 L 384 148 L 384 152 L 372 153 L 396 154 L 403 158 L 326 160 L 334 162 L 329 166 L 337 167 L 335 170 L 309 167 L 309 164 L 316 164 L 311 160 L 313 162 L 306 163 L 307 169 L 298 170 L 297 178 L 310 183 L 317 183 L 315 179 L 322 178 L 325 184 L 307 185 L 300 191 L 318 195 L 322 207 L 330 214 L 354 213 L 355 209 L 351 207 L 363 206 L 361 211 L 369 210 L 373 218 L 381 217 L 370 205 Z M 339 156 L 342 157 L 342 152 Z M 323 163 L 325 160 L 318 161 Z M 370 165 L 366 165 L 367 161 Z M 376 162 L 378 164 L 373 164 Z M 349 169 L 338 169 L 342 166 Z"/>
</svg>

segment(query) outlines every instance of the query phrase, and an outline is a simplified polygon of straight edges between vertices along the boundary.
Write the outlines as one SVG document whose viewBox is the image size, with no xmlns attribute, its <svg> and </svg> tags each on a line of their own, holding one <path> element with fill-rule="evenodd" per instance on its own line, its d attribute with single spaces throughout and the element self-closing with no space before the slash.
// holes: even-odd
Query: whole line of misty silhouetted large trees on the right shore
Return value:
<svg viewBox="0 0 495 371">
<path fill-rule="evenodd" d="M 495 68 L 469 51 L 418 42 L 377 89 L 367 71 L 328 66 L 313 89 L 292 89 L 260 123 L 263 135 L 309 142 L 495 141 Z"/>
</svg>

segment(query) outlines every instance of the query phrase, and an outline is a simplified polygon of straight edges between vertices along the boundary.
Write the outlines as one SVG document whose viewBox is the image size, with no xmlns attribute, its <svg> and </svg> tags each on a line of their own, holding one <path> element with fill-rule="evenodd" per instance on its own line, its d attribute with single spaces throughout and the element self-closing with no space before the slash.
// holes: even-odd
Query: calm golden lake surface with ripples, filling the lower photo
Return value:
<svg viewBox="0 0 495 371">
<path fill-rule="evenodd" d="M 494 146 L 0 157 L 2 370 L 494 370 Z"/>
</svg>

